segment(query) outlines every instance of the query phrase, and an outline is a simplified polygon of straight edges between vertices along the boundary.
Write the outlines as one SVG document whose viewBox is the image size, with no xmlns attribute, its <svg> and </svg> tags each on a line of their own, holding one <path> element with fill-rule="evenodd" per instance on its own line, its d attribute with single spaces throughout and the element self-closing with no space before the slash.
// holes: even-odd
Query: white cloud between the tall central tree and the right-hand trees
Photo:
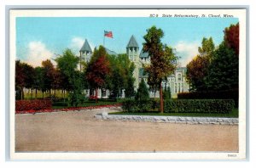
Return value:
<svg viewBox="0 0 256 168">
<path fill-rule="evenodd" d="M 177 51 L 177 55 L 181 57 L 179 59 L 181 66 L 186 66 L 198 54 L 200 45 L 200 42 L 177 42 L 174 48 Z"/>
</svg>

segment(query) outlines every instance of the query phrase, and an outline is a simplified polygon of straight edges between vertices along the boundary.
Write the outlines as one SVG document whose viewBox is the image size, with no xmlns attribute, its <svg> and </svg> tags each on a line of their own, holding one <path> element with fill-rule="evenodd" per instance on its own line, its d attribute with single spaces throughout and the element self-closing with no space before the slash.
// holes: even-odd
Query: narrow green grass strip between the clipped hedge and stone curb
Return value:
<svg viewBox="0 0 256 168">
<path fill-rule="evenodd" d="M 110 113 L 109 115 L 163 115 L 163 116 L 196 116 L 196 117 L 227 117 L 227 118 L 238 118 L 238 109 L 233 109 L 230 114 L 206 114 L 206 113 L 129 113 L 129 112 L 116 112 Z"/>
</svg>

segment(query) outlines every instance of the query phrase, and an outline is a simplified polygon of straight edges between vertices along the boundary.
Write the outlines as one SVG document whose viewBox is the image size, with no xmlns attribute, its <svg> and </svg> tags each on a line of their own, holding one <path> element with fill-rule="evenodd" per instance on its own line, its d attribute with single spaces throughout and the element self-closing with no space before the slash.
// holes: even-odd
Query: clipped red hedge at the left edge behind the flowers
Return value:
<svg viewBox="0 0 256 168">
<path fill-rule="evenodd" d="M 15 110 L 38 110 L 38 109 L 51 109 L 50 100 L 16 100 Z"/>
</svg>

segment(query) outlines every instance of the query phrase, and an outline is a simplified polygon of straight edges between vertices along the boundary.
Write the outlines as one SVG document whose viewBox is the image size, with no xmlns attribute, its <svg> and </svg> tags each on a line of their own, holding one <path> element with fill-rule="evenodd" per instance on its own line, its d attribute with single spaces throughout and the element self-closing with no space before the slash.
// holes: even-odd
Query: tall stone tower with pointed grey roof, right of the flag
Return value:
<svg viewBox="0 0 256 168">
<path fill-rule="evenodd" d="M 134 87 L 137 89 L 139 84 L 139 81 L 138 81 L 139 68 L 141 67 L 141 64 L 139 62 L 139 47 L 133 35 L 131 36 L 131 39 L 126 46 L 126 54 L 128 55 L 129 59 L 132 62 L 134 62 L 136 66 L 133 72 L 133 77 L 135 78 Z"/>
</svg>

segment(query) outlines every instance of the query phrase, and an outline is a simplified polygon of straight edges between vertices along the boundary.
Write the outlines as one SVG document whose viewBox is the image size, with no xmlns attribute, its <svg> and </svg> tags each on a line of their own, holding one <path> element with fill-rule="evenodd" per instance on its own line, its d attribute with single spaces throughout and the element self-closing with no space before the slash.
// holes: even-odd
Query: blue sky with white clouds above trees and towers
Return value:
<svg viewBox="0 0 256 168">
<path fill-rule="evenodd" d="M 125 53 L 131 35 L 141 49 L 146 30 L 156 25 L 165 33 L 162 42 L 176 48 L 185 66 L 197 54 L 203 37 L 212 36 L 218 45 L 223 41 L 224 28 L 237 22 L 236 18 L 17 18 L 16 59 L 37 66 L 42 60 L 54 59 L 55 53 L 61 54 L 65 48 L 79 55 L 85 38 L 92 49 L 102 45 L 104 30 L 113 31 L 113 38 L 105 38 L 105 46 L 116 53 Z"/>
</svg>

